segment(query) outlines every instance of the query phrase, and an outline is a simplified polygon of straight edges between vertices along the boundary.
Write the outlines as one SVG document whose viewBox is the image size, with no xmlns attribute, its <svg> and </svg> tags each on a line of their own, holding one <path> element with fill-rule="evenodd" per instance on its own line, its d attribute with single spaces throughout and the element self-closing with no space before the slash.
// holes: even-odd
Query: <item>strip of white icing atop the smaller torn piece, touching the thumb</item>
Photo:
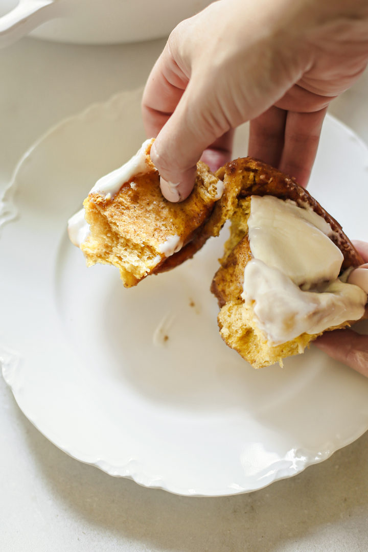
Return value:
<svg viewBox="0 0 368 552">
<path fill-rule="evenodd" d="M 115 169 L 115 171 L 105 174 L 105 176 L 95 183 L 89 193 L 98 193 L 105 199 L 110 199 L 114 197 L 119 192 L 121 186 L 129 182 L 131 178 L 138 174 L 148 172 L 150 167 L 147 163 L 147 149 L 152 143 L 153 138 L 143 142 L 140 150 L 138 150 L 129 161 L 118 169 Z"/>
</svg>

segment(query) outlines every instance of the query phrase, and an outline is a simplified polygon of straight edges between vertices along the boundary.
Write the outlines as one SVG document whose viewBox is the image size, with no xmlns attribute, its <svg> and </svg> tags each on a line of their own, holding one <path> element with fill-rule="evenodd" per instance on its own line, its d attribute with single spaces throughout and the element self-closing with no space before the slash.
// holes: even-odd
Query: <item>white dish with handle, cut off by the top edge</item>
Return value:
<svg viewBox="0 0 368 552">
<path fill-rule="evenodd" d="M 20 0 L 17 4 L 14 0 L 3 0 L 0 46 L 12 44 L 29 33 L 37 38 L 76 44 L 151 40 L 167 36 L 180 21 L 209 3 L 209 0 Z"/>
</svg>

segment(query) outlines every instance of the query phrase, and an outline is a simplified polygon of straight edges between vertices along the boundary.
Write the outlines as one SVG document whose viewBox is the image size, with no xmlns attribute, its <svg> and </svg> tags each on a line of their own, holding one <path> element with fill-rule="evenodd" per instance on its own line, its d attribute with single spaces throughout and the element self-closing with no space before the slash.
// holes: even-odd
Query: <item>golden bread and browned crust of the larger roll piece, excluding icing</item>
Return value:
<svg viewBox="0 0 368 552">
<path fill-rule="evenodd" d="M 227 163 L 217 171 L 216 176 L 223 179 L 226 191 L 216 204 L 210 219 L 215 221 L 215 225 L 219 224 L 221 214 L 226 213 L 232 222 L 230 238 L 225 244 L 225 254 L 220 259 L 221 266 L 211 284 L 211 291 L 221 307 L 218 314 L 221 337 L 254 368 L 265 367 L 275 362 L 282 364 L 285 357 L 302 353 L 317 335 L 303 333 L 292 341 L 275 346 L 269 343 L 259 330 L 254 319 L 253 306 L 244 304 L 241 297 L 244 268 L 252 258 L 247 225 L 250 196 L 274 195 L 280 199 L 295 201 L 302 208 L 311 208 L 322 216 L 333 230 L 330 237 L 343 253 L 342 270 L 359 266 L 363 259 L 338 222 L 307 190 L 298 185 L 294 178 L 249 157 Z M 338 327 L 349 326 L 350 323 L 351 321 L 347 320 Z"/>
</svg>

